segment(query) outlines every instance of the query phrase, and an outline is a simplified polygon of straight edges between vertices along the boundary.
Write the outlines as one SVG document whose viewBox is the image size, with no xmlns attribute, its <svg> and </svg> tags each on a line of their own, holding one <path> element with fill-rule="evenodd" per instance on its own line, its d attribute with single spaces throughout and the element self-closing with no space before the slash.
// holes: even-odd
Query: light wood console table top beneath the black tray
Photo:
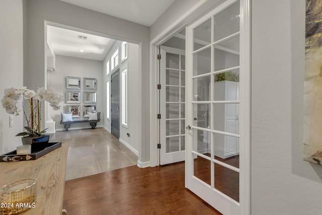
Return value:
<svg viewBox="0 0 322 215">
<path fill-rule="evenodd" d="M 68 144 L 62 144 L 37 160 L 0 163 L 0 188 L 24 178 L 38 180 L 36 207 L 21 214 L 62 214 L 67 152 Z"/>
</svg>

